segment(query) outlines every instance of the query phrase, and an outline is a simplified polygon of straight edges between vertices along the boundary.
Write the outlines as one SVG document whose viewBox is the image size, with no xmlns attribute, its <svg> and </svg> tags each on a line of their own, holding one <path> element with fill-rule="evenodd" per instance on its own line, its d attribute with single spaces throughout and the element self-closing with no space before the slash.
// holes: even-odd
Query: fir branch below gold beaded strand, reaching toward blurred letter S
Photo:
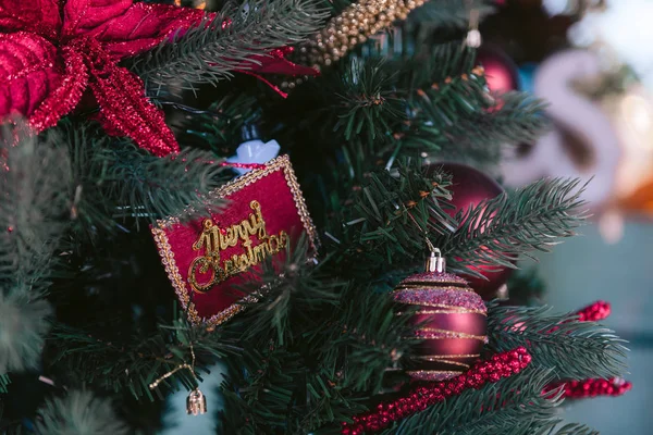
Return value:
<svg viewBox="0 0 653 435">
<path fill-rule="evenodd" d="M 272 116 L 285 124 L 282 139 L 301 132 L 331 149 L 335 135 L 342 149 L 360 144 L 366 156 L 389 165 L 421 152 L 496 162 L 503 147 L 531 142 L 549 123 L 544 103 L 532 96 L 491 95 L 475 57 L 460 44 L 409 59 L 348 57 L 273 105 Z"/>
</svg>

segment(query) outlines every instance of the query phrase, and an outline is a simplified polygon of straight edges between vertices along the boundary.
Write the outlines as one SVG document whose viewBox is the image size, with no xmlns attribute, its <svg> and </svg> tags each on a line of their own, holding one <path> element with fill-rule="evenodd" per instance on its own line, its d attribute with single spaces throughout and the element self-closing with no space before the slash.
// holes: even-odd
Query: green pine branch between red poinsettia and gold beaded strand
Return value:
<svg viewBox="0 0 653 435">
<path fill-rule="evenodd" d="M 234 71 L 247 71 L 256 55 L 297 44 L 325 18 L 317 0 L 229 2 L 213 20 L 137 58 L 132 70 L 148 85 L 178 83 L 182 88 L 215 84 Z M 155 89 L 155 94 L 157 90 Z"/>
</svg>

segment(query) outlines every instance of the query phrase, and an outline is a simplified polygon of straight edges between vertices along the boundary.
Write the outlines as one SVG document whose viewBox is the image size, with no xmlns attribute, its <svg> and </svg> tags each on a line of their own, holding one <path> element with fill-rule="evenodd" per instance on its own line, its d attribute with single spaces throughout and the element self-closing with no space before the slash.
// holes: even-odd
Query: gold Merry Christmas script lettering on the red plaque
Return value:
<svg viewBox="0 0 653 435">
<path fill-rule="evenodd" d="M 271 257 L 287 246 L 288 235 L 286 232 L 281 231 L 279 235 L 268 235 L 260 203 L 254 200 L 249 207 L 252 213 L 249 213 L 249 216 L 241 223 L 227 228 L 220 228 L 210 219 L 202 222 L 204 229 L 193 244 L 193 250 L 201 251 L 204 249 L 205 254 L 196 257 L 188 268 L 188 283 L 195 291 L 206 293 L 215 284 L 245 272 L 261 263 L 266 257 Z M 256 236 L 257 245 L 252 244 L 251 236 Z M 220 252 L 235 247 L 239 243 L 245 252 L 233 254 L 222 261 Z M 198 275 L 209 272 L 209 279 L 205 282 L 198 279 Z"/>
</svg>

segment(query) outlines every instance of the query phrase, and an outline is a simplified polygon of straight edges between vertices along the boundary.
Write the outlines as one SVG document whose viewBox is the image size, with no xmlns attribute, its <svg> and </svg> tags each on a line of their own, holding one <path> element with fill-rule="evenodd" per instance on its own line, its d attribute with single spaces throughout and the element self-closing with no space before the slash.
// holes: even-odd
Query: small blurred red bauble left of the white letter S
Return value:
<svg viewBox="0 0 653 435">
<path fill-rule="evenodd" d="M 477 63 L 485 71 L 490 90 L 507 92 L 519 89 L 519 70 L 509 55 L 496 46 L 484 44 L 477 52 Z"/>
</svg>

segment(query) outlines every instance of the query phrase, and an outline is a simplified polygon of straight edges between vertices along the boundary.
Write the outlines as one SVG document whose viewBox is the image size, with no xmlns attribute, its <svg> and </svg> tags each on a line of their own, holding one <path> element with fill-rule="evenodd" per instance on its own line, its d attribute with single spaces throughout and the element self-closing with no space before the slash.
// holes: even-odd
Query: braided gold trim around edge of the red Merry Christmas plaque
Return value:
<svg viewBox="0 0 653 435">
<path fill-rule="evenodd" d="M 291 160 L 288 156 L 280 156 L 276 159 L 273 159 L 266 163 L 266 167 L 261 170 L 250 171 L 224 184 L 223 186 L 211 190 L 209 194 L 207 194 L 206 200 L 207 202 L 210 202 L 211 200 L 223 199 L 224 197 L 227 197 L 276 171 L 283 171 L 286 184 L 293 194 L 293 199 L 295 200 L 295 206 L 297 207 L 297 213 L 299 214 L 301 223 L 304 224 L 304 228 L 308 234 L 310 248 L 317 254 L 318 248 L 320 246 L 320 240 L 318 238 L 317 229 L 312 223 L 312 220 L 308 214 L 308 209 L 306 207 L 306 202 L 304 201 L 304 196 L 301 195 L 301 189 L 299 187 L 299 183 L 297 182 L 297 177 L 293 172 L 293 167 L 291 165 Z M 195 209 L 188 207 L 184 211 L 184 213 L 195 211 Z M 161 262 L 165 268 L 168 277 L 170 278 L 172 286 L 174 287 L 174 290 L 180 299 L 180 302 L 182 303 L 182 308 L 188 313 L 188 320 L 190 321 L 190 323 L 199 324 L 204 322 L 211 325 L 219 325 L 221 323 L 226 322 L 241 311 L 245 310 L 245 307 L 242 303 L 254 303 L 258 301 L 258 298 L 255 295 L 247 295 L 237 302 L 227 307 L 226 309 L 220 311 L 217 314 L 213 314 L 209 319 L 205 319 L 199 315 L 197 309 L 195 308 L 195 303 L 190 301 L 190 291 L 186 287 L 184 278 L 180 274 L 180 270 L 174 259 L 174 252 L 170 247 L 168 236 L 164 232 L 164 229 L 168 229 L 172 225 L 177 224 L 180 222 L 180 219 L 176 216 L 170 216 L 167 219 L 158 220 L 156 225 L 152 225 L 151 233 L 155 237 L 155 243 L 159 250 Z"/>
</svg>

